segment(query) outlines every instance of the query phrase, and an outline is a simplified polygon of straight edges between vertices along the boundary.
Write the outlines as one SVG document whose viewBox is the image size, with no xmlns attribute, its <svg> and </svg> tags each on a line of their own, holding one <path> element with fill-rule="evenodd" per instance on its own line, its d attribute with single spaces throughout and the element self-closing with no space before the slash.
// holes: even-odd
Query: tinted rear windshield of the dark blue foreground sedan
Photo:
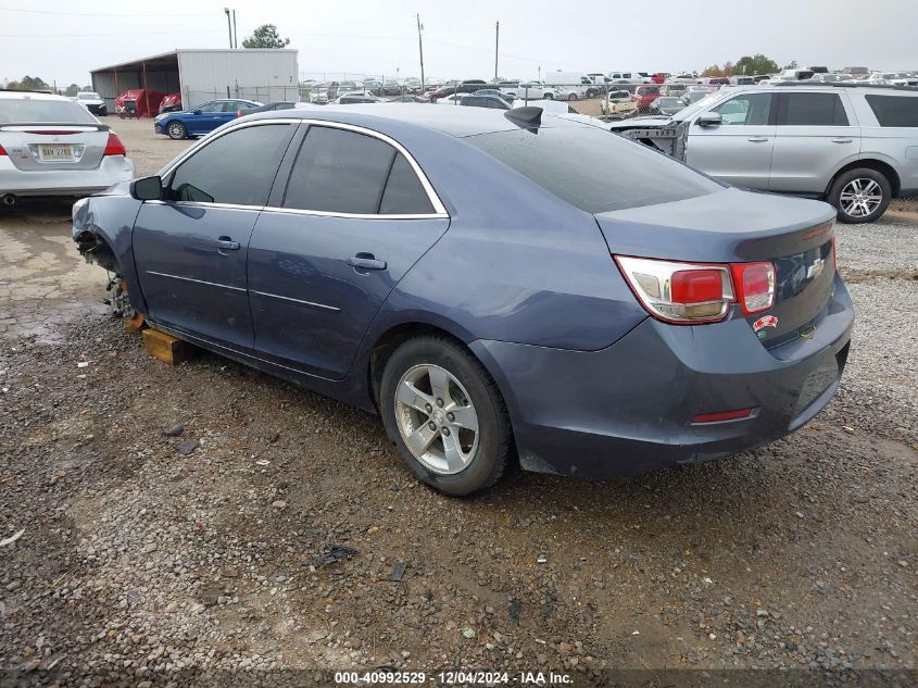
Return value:
<svg viewBox="0 0 918 688">
<path fill-rule="evenodd" d="M 722 188 L 662 152 L 594 126 L 494 132 L 464 140 L 588 213 L 681 201 Z"/>
</svg>

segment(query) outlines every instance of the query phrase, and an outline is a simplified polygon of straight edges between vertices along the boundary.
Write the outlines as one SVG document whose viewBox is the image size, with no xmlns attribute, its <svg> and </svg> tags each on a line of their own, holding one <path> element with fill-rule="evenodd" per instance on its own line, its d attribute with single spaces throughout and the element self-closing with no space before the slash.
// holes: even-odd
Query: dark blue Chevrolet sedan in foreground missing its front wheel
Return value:
<svg viewBox="0 0 918 688">
<path fill-rule="evenodd" d="M 378 413 L 462 496 L 800 428 L 848 352 L 833 218 L 538 108 L 373 104 L 242 117 L 73 237 L 122 312 Z"/>
</svg>

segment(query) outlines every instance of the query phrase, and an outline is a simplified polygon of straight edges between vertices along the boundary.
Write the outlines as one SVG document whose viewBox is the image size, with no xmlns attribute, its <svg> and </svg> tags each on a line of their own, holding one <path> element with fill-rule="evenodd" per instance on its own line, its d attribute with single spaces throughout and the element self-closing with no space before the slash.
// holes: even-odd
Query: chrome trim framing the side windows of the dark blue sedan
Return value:
<svg viewBox="0 0 918 688">
<path fill-rule="evenodd" d="M 210 146 L 213 141 L 217 140 L 218 138 L 226 136 L 231 132 L 236 132 L 238 129 L 242 129 L 250 126 L 265 126 L 271 124 L 307 124 L 310 126 L 327 126 L 334 129 L 344 129 L 347 132 L 353 132 L 355 134 L 363 134 L 365 136 L 370 136 L 373 138 L 379 139 L 385 143 L 388 143 L 392 148 L 394 148 L 398 152 L 405 157 L 405 160 L 408 161 L 412 170 L 417 175 L 418 180 L 420 182 L 420 186 L 424 188 L 425 192 L 427 193 L 427 200 L 430 201 L 430 204 L 433 207 L 432 213 L 414 213 L 414 214 L 403 214 L 403 215 L 380 215 L 380 214 L 370 214 L 370 213 L 342 213 L 342 212 L 335 212 L 335 211 L 323 211 L 323 210 L 303 210 L 299 208 L 278 208 L 276 205 L 237 205 L 234 203 L 199 203 L 199 202 L 191 202 L 191 201 L 168 201 L 169 203 L 178 204 L 192 204 L 203 208 L 230 208 L 230 209 L 254 209 L 254 210 L 269 210 L 272 212 L 281 212 L 281 213 L 290 213 L 290 214 L 299 214 L 299 215 L 316 215 L 320 217 L 352 217 L 359 220 L 443 220 L 449 218 L 449 213 L 447 212 L 445 205 L 440 200 L 440 197 L 437 195 L 437 191 L 433 189 L 433 185 L 430 184 L 430 179 L 427 178 L 427 175 L 424 174 L 424 170 L 420 168 L 420 165 L 414 159 L 407 149 L 402 146 L 399 141 L 393 139 L 386 134 L 380 132 L 376 132 L 374 129 L 368 129 L 363 126 L 359 126 L 355 124 L 344 124 L 342 122 L 330 122 L 326 120 L 311 120 L 311 118 L 294 118 L 294 117 L 277 117 L 271 120 L 255 120 L 253 122 L 242 122 L 240 124 L 234 124 L 226 129 L 222 130 L 216 136 L 205 136 L 198 146 L 193 146 L 189 150 L 185 152 L 181 158 L 175 160 L 167 168 L 165 168 L 161 174 L 161 178 L 165 178 L 175 172 L 175 168 L 183 164 L 186 160 L 191 158 L 194 153 L 202 150 L 206 146 Z M 304 139 L 305 140 L 305 139 Z M 302 142 L 301 142 L 302 146 Z M 147 203 L 165 203 L 166 201 L 144 201 Z"/>
</svg>

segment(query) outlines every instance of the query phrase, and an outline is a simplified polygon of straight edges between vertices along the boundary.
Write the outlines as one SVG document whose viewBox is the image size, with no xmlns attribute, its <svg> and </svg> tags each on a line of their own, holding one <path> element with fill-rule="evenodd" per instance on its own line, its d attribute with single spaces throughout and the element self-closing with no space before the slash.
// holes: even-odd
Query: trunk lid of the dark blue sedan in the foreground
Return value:
<svg viewBox="0 0 918 688">
<path fill-rule="evenodd" d="M 832 221 L 825 203 L 725 189 L 671 203 L 598 213 L 612 253 L 691 263 L 775 265 L 775 303 L 745 315 L 770 348 L 810 336 L 834 285 Z"/>
</svg>

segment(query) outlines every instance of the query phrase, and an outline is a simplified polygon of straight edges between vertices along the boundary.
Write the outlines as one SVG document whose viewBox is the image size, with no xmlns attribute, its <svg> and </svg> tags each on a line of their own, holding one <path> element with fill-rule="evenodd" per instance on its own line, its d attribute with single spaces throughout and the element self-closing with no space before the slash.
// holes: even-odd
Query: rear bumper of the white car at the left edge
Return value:
<svg viewBox="0 0 918 688">
<path fill-rule="evenodd" d="M 0 195 L 86 196 L 134 178 L 134 162 L 106 155 L 96 170 L 40 170 L 23 172 L 8 157 L 0 158 Z"/>
</svg>

